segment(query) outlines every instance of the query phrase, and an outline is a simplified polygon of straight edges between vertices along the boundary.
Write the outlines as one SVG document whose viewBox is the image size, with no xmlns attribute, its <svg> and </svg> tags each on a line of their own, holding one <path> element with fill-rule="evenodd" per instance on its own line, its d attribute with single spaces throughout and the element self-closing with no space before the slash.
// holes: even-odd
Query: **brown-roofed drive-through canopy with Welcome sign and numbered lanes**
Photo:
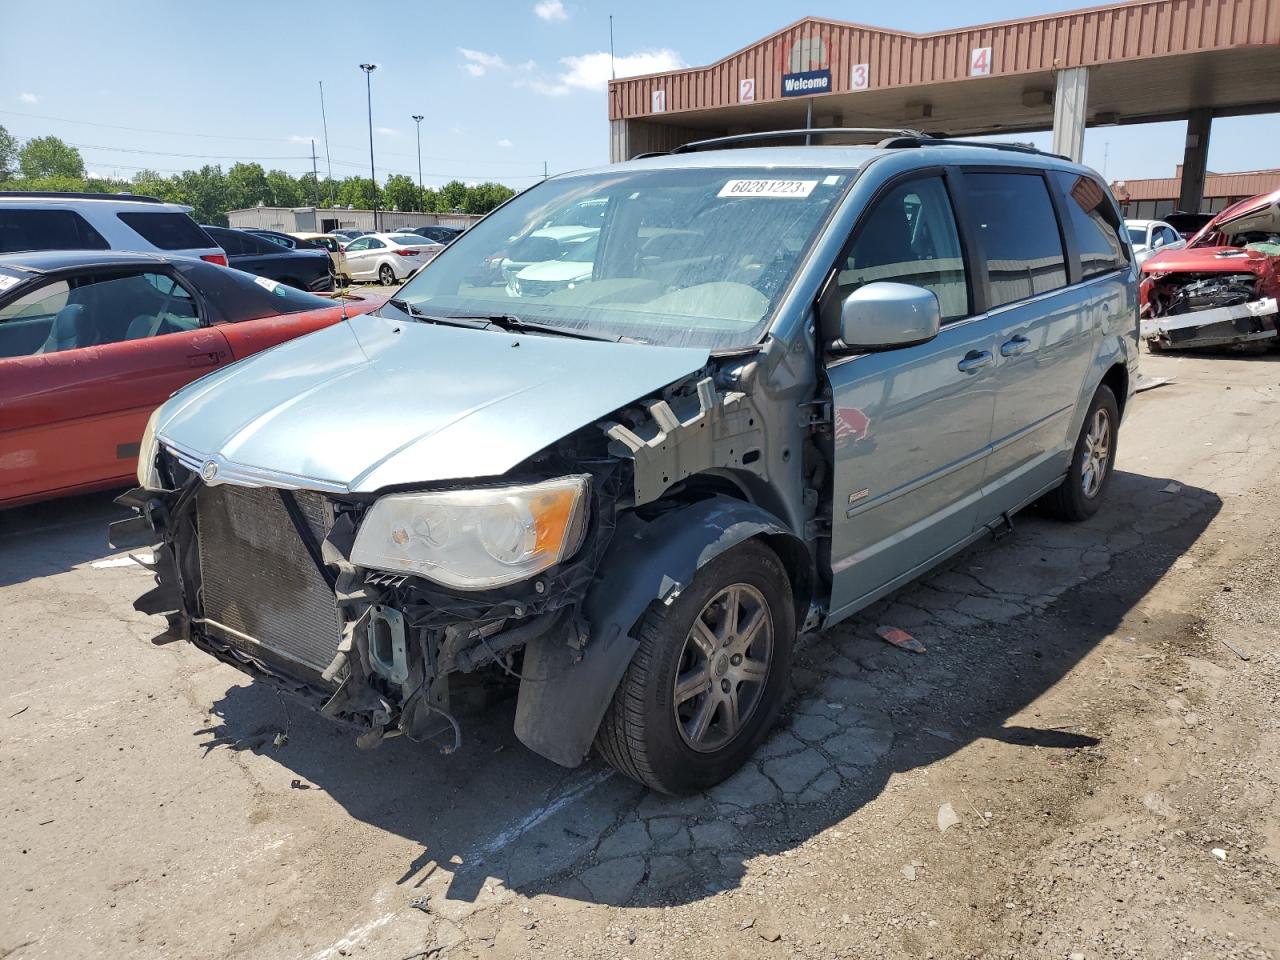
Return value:
<svg viewBox="0 0 1280 960">
<path fill-rule="evenodd" d="M 957 8 L 959 9 L 959 8 Z M 806 17 L 708 67 L 609 83 L 609 156 L 813 127 L 945 136 L 1185 120 L 1197 210 L 1215 116 L 1280 111 L 1280 0 L 1137 0 L 906 33 Z"/>
</svg>

